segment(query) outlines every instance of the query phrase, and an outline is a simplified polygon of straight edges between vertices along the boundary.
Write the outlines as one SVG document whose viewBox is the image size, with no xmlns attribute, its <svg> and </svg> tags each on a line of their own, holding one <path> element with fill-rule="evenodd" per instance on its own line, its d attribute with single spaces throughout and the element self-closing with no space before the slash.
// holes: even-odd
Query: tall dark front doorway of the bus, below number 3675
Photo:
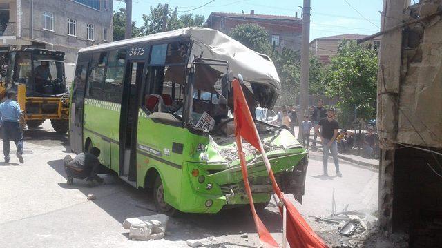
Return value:
<svg viewBox="0 0 442 248">
<path fill-rule="evenodd" d="M 126 63 L 122 111 L 119 127 L 119 174 L 122 178 L 135 181 L 137 161 L 137 122 L 139 94 L 142 85 L 144 61 Z"/>
</svg>

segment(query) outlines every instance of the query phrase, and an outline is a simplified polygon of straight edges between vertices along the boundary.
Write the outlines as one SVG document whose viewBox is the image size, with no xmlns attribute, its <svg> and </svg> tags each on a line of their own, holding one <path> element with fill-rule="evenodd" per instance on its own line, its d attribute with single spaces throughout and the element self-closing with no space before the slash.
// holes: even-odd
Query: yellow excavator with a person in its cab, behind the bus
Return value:
<svg viewBox="0 0 442 248">
<path fill-rule="evenodd" d="M 10 48 L 8 52 L 0 52 L 0 99 L 7 90 L 17 92 L 29 128 L 39 127 L 50 119 L 56 132 L 68 132 L 64 52 L 40 48 Z"/>
</svg>

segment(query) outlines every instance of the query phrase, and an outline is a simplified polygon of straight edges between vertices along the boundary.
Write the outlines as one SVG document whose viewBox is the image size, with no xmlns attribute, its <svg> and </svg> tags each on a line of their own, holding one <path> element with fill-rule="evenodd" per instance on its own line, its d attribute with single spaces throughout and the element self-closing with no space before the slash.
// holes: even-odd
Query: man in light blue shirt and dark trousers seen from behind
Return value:
<svg viewBox="0 0 442 248">
<path fill-rule="evenodd" d="M 3 127 L 3 154 L 5 162 L 9 163 L 10 141 L 15 142 L 17 147 L 17 158 L 23 163 L 23 128 L 26 125 L 25 118 L 17 103 L 15 92 L 6 92 L 7 100 L 0 104 L 1 125 Z"/>
</svg>

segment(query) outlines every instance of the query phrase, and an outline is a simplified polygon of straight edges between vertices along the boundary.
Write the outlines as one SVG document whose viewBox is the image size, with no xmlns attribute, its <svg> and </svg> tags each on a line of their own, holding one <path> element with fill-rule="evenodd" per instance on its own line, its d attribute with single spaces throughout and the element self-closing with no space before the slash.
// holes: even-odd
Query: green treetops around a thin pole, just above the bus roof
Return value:
<svg viewBox="0 0 442 248">
<path fill-rule="evenodd" d="M 141 27 L 141 32 L 144 35 L 156 34 L 162 32 L 163 17 L 165 6 L 158 3 L 157 7 L 151 6 L 150 14 L 143 14 L 144 25 Z M 166 31 L 177 30 L 179 28 L 187 27 L 201 27 L 204 24 L 204 16 L 200 14 L 182 14 L 178 16 L 178 7 L 175 9 L 168 8 L 166 14 Z"/>
</svg>

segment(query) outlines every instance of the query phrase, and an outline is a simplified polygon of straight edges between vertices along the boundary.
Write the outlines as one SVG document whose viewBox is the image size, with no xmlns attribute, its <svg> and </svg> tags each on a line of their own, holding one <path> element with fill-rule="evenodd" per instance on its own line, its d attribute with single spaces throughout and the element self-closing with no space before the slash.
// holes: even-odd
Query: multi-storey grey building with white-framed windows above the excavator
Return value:
<svg viewBox="0 0 442 248">
<path fill-rule="evenodd" d="M 9 45 L 77 51 L 112 41 L 112 0 L 0 0 L 0 50 Z"/>
</svg>

